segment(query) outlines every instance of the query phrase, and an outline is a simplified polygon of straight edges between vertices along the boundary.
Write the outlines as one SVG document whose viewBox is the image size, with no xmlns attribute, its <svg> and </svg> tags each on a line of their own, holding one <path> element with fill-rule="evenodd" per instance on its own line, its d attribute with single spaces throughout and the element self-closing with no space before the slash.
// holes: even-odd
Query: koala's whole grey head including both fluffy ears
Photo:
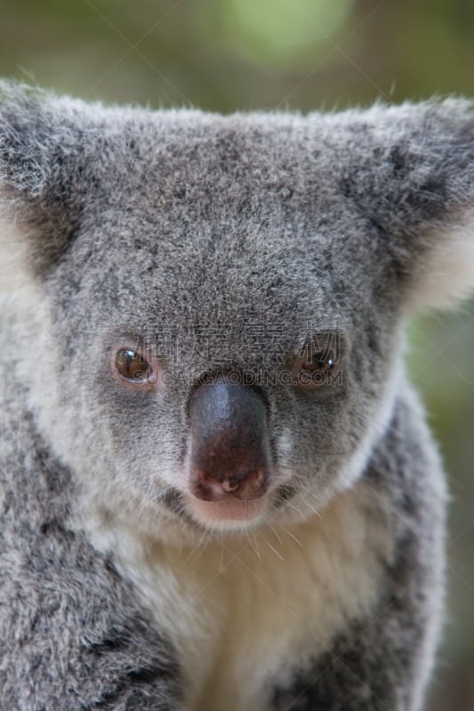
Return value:
<svg viewBox="0 0 474 711">
<path fill-rule="evenodd" d="M 354 483 L 406 316 L 474 284 L 470 103 L 1 96 L 13 360 L 79 491 L 162 535 L 303 519 Z"/>
</svg>

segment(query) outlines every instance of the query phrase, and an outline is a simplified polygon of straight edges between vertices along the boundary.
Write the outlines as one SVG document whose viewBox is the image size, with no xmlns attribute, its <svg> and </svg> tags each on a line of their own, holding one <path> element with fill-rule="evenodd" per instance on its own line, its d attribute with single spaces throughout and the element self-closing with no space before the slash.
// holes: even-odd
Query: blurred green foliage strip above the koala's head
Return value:
<svg viewBox="0 0 474 711">
<path fill-rule="evenodd" d="M 4 75 L 152 106 L 474 92 L 472 0 L 0 0 Z"/>
</svg>

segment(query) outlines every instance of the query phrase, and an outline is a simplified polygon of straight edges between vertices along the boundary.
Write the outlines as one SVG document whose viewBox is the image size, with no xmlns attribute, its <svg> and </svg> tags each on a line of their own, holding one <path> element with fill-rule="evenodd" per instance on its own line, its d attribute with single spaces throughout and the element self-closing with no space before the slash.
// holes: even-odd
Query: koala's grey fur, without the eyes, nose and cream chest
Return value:
<svg viewBox="0 0 474 711">
<path fill-rule="evenodd" d="M 192 387 L 228 371 L 274 376 L 261 386 L 281 477 L 270 523 L 366 482 L 379 502 L 366 515 L 392 547 L 376 554 L 370 615 L 347 619 L 324 655 L 288 659 L 289 676 L 270 669 L 259 711 L 422 707 L 445 491 L 400 334 L 439 247 L 465 260 L 449 240 L 474 203 L 473 138 L 463 100 L 217 116 L 1 85 L 0 243 L 3 255 L 24 247 L 18 284 L 4 276 L 0 354 L 2 709 L 186 699 L 160 620 L 82 522 L 93 503 L 169 546 L 213 540 L 170 472 L 186 467 Z M 277 329 L 278 351 L 255 324 Z M 283 382 L 307 332 L 328 327 L 341 380 L 311 393 Z M 110 374 L 114 348 L 138 336 L 170 376 L 154 395 Z"/>
</svg>

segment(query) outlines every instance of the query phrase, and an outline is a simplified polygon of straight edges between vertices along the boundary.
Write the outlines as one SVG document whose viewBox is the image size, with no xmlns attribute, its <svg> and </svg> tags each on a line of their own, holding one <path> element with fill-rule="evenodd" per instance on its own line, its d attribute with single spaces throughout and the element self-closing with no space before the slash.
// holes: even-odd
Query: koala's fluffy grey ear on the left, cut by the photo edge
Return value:
<svg viewBox="0 0 474 711">
<path fill-rule="evenodd" d="M 87 161 L 84 130 L 75 100 L 0 82 L 2 282 L 27 266 L 43 274 L 73 236 L 81 212 L 77 186 L 85 182 L 78 180 Z"/>
</svg>

